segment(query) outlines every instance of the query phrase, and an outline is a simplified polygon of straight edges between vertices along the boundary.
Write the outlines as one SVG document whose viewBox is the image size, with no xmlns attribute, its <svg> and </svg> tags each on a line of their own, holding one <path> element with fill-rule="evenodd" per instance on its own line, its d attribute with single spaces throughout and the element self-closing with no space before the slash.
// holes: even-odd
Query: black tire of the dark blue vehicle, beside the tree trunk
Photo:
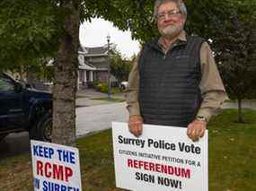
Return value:
<svg viewBox="0 0 256 191">
<path fill-rule="evenodd" d="M 40 120 L 31 128 L 30 138 L 43 142 L 51 142 L 52 113 L 49 112 L 40 117 Z"/>
</svg>

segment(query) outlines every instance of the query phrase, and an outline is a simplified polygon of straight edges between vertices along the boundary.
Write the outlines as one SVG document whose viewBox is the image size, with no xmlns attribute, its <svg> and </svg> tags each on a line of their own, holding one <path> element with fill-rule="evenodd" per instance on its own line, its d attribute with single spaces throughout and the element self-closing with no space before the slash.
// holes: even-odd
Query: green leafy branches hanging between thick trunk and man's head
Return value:
<svg viewBox="0 0 256 191">
<path fill-rule="evenodd" d="M 154 38 L 158 31 L 152 22 L 154 1 L 109 0 L 84 1 L 87 15 L 113 22 L 119 30 L 131 30 L 132 37 L 141 42 Z"/>
</svg>

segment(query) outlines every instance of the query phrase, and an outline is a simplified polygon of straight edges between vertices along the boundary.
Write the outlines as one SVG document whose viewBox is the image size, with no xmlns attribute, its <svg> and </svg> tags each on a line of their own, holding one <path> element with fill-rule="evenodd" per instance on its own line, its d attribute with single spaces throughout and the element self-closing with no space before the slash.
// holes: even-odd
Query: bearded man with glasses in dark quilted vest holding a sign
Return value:
<svg viewBox="0 0 256 191">
<path fill-rule="evenodd" d="M 181 0 L 156 0 L 154 19 L 161 37 L 144 45 L 129 74 L 129 131 L 141 135 L 143 123 L 181 126 L 197 141 L 227 98 L 223 82 L 207 42 L 183 30 Z"/>
</svg>

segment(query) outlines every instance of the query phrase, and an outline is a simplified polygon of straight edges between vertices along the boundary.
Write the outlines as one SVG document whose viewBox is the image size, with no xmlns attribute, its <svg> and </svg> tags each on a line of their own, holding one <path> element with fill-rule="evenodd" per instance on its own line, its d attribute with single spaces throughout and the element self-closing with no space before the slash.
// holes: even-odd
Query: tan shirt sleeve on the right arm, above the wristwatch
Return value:
<svg viewBox="0 0 256 191">
<path fill-rule="evenodd" d="M 212 50 L 207 42 L 204 42 L 201 46 L 200 61 L 202 77 L 199 88 L 203 100 L 197 116 L 206 117 L 208 121 L 212 115 L 216 114 L 228 97 L 217 70 Z"/>
</svg>

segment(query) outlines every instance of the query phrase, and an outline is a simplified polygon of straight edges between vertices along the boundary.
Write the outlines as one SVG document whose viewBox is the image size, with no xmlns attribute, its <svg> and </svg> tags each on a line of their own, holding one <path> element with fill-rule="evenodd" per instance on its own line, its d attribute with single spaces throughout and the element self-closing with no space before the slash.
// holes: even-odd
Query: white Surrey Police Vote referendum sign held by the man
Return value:
<svg viewBox="0 0 256 191">
<path fill-rule="evenodd" d="M 136 191 L 207 191 L 207 131 L 192 142 L 187 128 L 144 125 L 138 138 L 113 122 L 116 186 Z"/>
</svg>

